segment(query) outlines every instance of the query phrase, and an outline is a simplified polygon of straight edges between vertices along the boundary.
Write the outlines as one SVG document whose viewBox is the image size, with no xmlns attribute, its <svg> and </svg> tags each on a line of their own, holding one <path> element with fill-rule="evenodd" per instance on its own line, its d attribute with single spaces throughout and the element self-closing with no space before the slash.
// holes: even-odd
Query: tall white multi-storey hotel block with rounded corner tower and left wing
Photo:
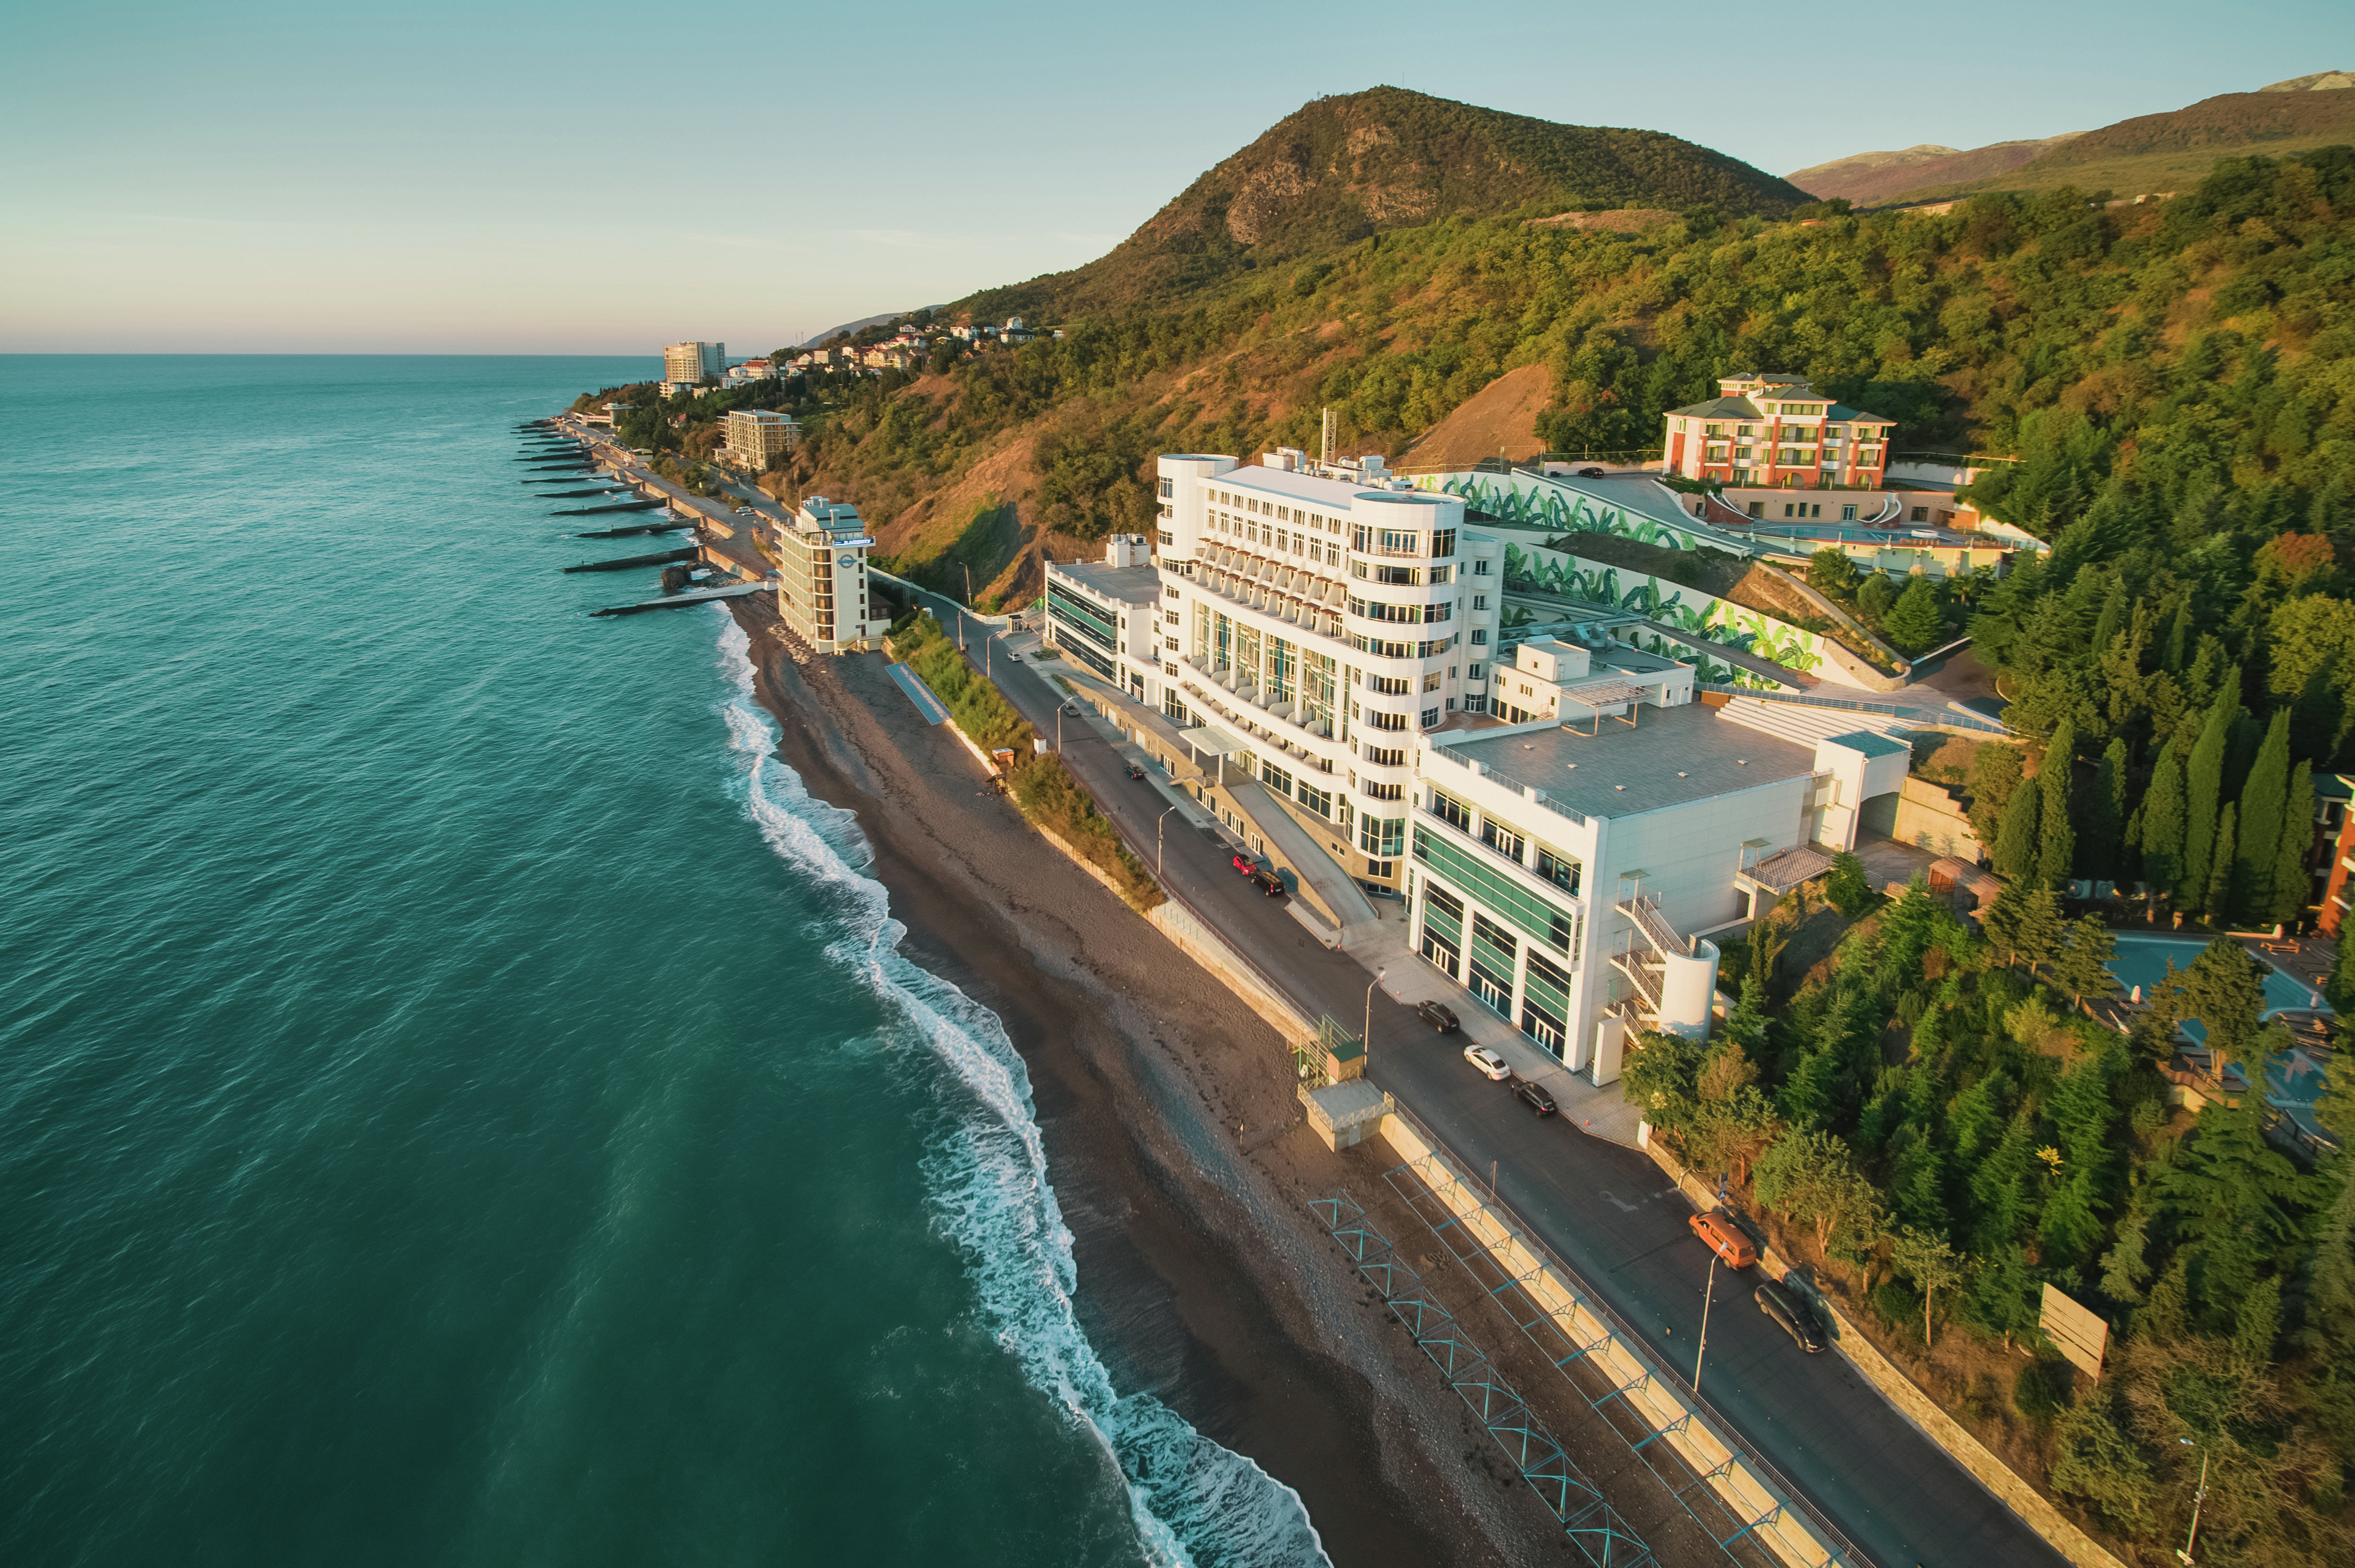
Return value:
<svg viewBox="0 0 2355 1568">
<path fill-rule="evenodd" d="M 1291 848 L 1281 808 L 1347 878 L 1399 888 L 1415 737 L 1486 709 L 1500 549 L 1378 457 L 1159 469 L 1154 565 L 1053 567 L 1050 638 L 1185 737 L 1166 760 L 1229 826 Z"/>
</svg>

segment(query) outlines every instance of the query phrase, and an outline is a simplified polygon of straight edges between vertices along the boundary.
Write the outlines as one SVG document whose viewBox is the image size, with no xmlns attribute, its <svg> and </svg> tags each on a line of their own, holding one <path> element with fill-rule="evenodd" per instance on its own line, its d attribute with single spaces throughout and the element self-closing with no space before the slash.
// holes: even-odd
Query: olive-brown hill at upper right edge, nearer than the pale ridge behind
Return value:
<svg viewBox="0 0 2355 1568">
<path fill-rule="evenodd" d="M 2136 115 L 2070 137 L 2030 162 L 1966 181 L 1917 184 L 1886 205 L 1936 202 L 1973 191 L 2190 191 L 2218 158 L 2282 158 L 2355 141 L 2355 92 L 2225 92 L 2164 115 Z"/>
</svg>

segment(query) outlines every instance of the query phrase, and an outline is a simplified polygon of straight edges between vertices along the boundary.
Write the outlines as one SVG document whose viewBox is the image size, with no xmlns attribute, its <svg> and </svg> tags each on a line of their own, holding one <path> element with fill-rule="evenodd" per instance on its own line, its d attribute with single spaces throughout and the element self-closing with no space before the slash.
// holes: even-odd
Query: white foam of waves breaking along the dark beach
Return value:
<svg viewBox="0 0 2355 1568">
<path fill-rule="evenodd" d="M 794 869 L 841 895 L 848 930 L 827 958 L 885 1001 L 963 1085 L 954 1130 L 923 1175 L 942 1229 L 963 1248 L 980 1309 L 1022 1375 L 1119 1464 L 1149 1563 L 1274 1568 L 1328 1563 L 1300 1493 L 1248 1457 L 1194 1431 L 1152 1394 L 1119 1394 L 1079 1326 L 1072 1231 L 1046 1172 L 1029 1069 L 994 1012 L 900 956 L 904 925 L 867 876 L 857 819 L 817 800 L 775 756 L 777 730 L 751 695 L 749 638 L 728 619 L 721 666 L 730 749 L 744 770 L 747 812 Z"/>
</svg>

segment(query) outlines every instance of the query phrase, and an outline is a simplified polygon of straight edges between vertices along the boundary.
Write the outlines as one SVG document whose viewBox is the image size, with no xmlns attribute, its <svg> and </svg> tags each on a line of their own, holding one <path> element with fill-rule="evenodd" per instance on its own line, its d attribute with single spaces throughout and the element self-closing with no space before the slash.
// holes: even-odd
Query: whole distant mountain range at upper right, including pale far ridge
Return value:
<svg viewBox="0 0 2355 1568">
<path fill-rule="evenodd" d="M 1992 141 L 1971 151 L 1922 144 L 1853 153 L 1797 170 L 1787 179 L 1809 195 L 1846 198 L 1858 207 L 2054 186 L 2141 195 L 2195 186 L 2218 158 L 2280 158 L 2334 141 L 2355 141 L 2355 73 L 2348 71 L 2317 71 L 2256 92 L 2225 92 L 2190 108 L 2037 141 Z"/>
</svg>

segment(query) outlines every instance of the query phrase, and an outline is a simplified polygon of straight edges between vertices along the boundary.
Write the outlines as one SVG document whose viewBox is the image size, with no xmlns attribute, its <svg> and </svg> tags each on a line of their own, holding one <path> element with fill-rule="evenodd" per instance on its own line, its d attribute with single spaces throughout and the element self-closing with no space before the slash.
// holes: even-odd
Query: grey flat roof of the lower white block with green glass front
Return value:
<svg viewBox="0 0 2355 1568">
<path fill-rule="evenodd" d="M 1587 817 L 1639 817 L 1816 772 L 1809 746 L 1778 739 L 1705 704 L 1641 709 L 1637 727 L 1606 718 L 1601 735 L 1557 727 L 1484 735 L 1455 746 L 1507 784 L 1531 784 Z M 1441 786 L 1446 777 L 1437 779 Z"/>
</svg>

